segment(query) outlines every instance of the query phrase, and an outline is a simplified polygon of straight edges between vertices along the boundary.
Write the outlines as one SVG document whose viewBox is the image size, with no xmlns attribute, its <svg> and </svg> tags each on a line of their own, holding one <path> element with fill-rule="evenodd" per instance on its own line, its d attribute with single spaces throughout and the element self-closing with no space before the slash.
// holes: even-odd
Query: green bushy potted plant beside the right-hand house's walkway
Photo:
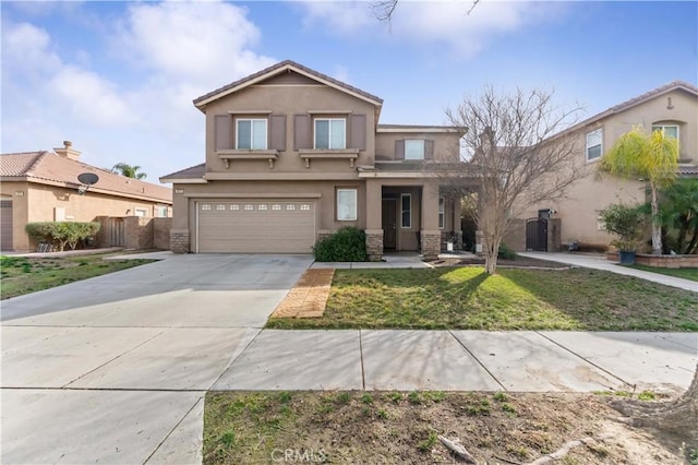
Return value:
<svg viewBox="0 0 698 465">
<path fill-rule="evenodd" d="M 635 264 L 635 253 L 645 235 L 647 219 L 641 205 L 629 206 L 616 203 L 599 213 L 605 230 L 618 237 L 611 245 L 618 249 L 621 264 Z"/>
</svg>

